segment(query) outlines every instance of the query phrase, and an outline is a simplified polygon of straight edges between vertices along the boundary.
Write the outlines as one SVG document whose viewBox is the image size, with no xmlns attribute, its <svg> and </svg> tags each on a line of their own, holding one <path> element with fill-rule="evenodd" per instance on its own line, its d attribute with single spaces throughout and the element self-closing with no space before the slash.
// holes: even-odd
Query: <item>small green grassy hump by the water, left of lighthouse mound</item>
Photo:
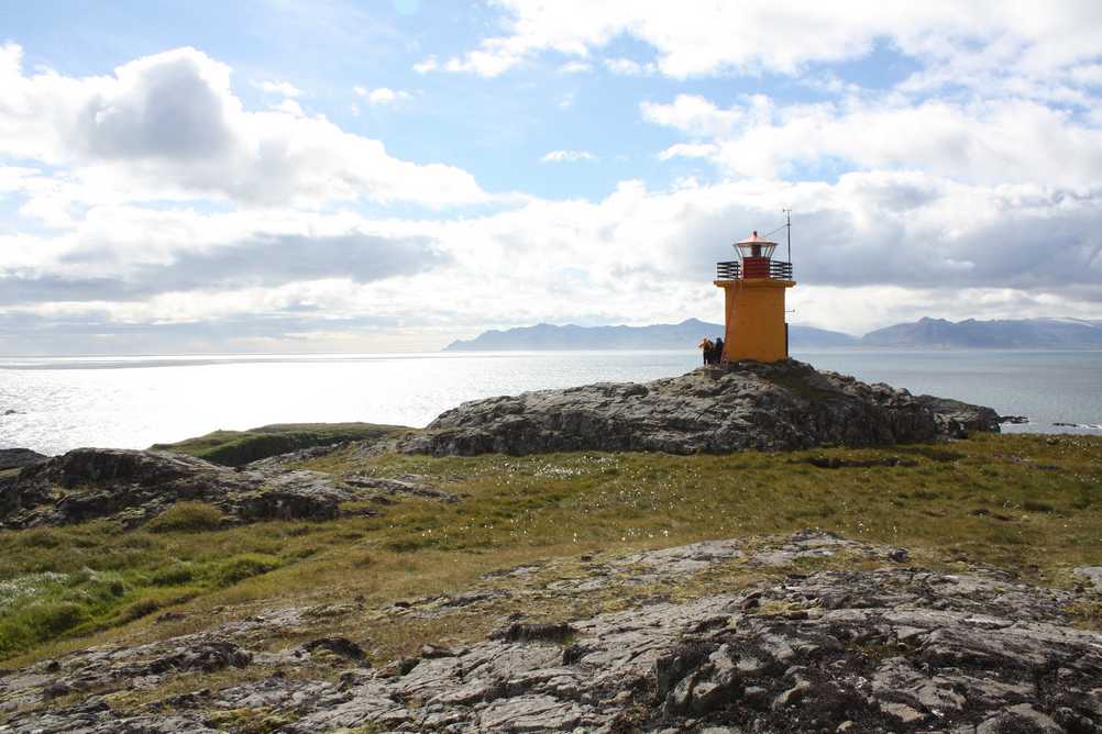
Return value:
<svg viewBox="0 0 1102 734">
<path fill-rule="evenodd" d="M 240 467 L 258 459 L 315 446 L 385 438 L 399 430 L 409 429 L 370 423 L 274 424 L 249 430 L 216 430 L 179 443 L 154 443 L 150 448 L 187 453 L 227 467 Z"/>
</svg>

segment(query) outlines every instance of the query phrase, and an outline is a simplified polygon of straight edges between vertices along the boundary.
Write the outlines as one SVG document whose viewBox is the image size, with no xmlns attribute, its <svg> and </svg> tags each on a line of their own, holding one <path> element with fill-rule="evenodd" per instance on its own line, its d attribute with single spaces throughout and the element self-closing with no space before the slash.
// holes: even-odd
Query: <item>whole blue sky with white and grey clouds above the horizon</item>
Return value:
<svg viewBox="0 0 1102 734">
<path fill-rule="evenodd" d="M 784 209 L 793 324 L 1100 319 L 1100 29 L 1096 0 L 0 3 L 0 353 L 721 321 L 715 263 Z"/>
</svg>

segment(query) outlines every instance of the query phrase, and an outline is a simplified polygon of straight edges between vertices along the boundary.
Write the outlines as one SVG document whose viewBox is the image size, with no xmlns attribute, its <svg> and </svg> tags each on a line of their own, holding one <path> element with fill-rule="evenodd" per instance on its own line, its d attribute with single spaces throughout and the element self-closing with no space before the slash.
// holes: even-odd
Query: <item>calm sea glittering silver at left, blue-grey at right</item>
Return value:
<svg viewBox="0 0 1102 734">
<path fill-rule="evenodd" d="M 799 352 L 820 369 L 1025 415 L 1008 431 L 1102 424 L 1102 352 Z M 345 421 L 423 426 L 479 397 L 696 366 L 695 351 L 0 358 L 0 448 L 144 448 L 218 428 Z M 4 415 L 8 412 L 14 412 Z"/>
</svg>

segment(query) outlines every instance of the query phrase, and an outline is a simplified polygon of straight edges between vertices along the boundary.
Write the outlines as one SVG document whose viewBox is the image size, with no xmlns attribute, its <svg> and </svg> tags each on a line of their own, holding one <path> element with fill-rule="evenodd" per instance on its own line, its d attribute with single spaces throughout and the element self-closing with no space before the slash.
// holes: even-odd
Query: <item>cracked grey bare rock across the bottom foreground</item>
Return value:
<svg viewBox="0 0 1102 734">
<path fill-rule="evenodd" d="M 486 639 L 426 645 L 378 669 L 345 638 L 249 649 L 276 631 L 301 637 L 312 616 L 271 611 L 0 675 L 0 732 L 1102 731 L 1102 634 L 1072 627 L 1065 612 L 1096 598 L 985 567 L 946 573 L 907 558 L 900 548 L 804 532 L 593 560 L 588 577 L 557 593 L 715 578 L 725 568 L 764 577 L 569 623 L 507 617 Z M 841 562 L 796 572 L 809 559 Z M 533 573 L 523 567 L 494 578 Z M 511 589 L 503 593 L 528 601 L 547 593 L 537 580 Z M 437 614 L 437 601 L 379 613 Z M 311 676 L 318 656 L 344 667 Z M 229 668 L 248 680 L 184 693 L 173 682 Z M 138 709 L 117 710 L 111 695 L 162 686 L 174 692 Z"/>
</svg>

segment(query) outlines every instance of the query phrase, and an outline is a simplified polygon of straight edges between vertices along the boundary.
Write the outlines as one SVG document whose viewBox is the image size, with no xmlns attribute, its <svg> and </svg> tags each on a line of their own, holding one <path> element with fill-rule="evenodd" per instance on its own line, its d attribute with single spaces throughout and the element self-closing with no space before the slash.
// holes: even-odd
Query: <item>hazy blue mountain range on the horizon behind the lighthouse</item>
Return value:
<svg viewBox="0 0 1102 734">
<path fill-rule="evenodd" d="M 947 321 L 922 318 L 877 329 L 864 337 L 790 325 L 789 344 L 799 349 L 877 347 L 910 349 L 1102 349 L 1102 320 L 1012 319 Z M 444 351 L 689 349 L 703 337 L 723 336 L 723 325 L 699 319 L 653 326 L 553 326 L 539 324 L 453 341 Z"/>
</svg>

